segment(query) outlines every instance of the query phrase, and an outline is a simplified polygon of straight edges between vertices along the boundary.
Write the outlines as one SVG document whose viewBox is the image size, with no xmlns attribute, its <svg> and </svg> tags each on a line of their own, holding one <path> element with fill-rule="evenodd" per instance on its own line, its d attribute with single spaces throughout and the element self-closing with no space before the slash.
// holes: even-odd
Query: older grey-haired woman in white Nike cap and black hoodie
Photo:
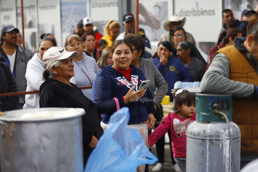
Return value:
<svg viewBox="0 0 258 172">
<path fill-rule="evenodd" d="M 89 155 L 103 134 L 97 114 L 97 107 L 75 84 L 72 57 L 78 52 L 67 52 L 64 48 L 51 47 L 43 55 L 45 82 L 40 86 L 40 107 L 83 108 L 82 116 L 84 166 Z M 81 153 L 81 152 L 78 152 Z"/>
</svg>

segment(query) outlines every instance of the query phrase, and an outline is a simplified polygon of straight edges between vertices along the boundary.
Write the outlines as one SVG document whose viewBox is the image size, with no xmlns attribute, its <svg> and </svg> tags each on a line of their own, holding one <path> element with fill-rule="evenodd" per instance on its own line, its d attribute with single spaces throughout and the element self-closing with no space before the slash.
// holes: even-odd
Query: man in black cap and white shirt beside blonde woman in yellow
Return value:
<svg viewBox="0 0 258 172">
<path fill-rule="evenodd" d="M 122 40 L 126 35 L 131 33 L 131 30 L 135 28 L 135 18 L 133 14 L 125 14 L 123 16 L 123 26 L 125 28 L 125 31 L 120 33 L 117 37 L 116 40 Z"/>
</svg>

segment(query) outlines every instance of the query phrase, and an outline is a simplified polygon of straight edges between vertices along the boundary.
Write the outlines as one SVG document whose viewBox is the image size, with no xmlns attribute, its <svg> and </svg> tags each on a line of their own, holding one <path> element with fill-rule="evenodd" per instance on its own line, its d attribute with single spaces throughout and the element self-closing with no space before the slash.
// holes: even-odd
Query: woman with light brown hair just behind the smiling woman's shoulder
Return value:
<svg viewBox="0 0 258 172">
<path fill-rule="evenodd" d="M 112 49 L 111 47 L 106 47 L 102 51 L 101 57 L 97 61 L 97 65 L 99 66 L 100 69 L 106 65 L 111 65 L 114 63 L 111 56 L 111 49 Z"/>
</svg>

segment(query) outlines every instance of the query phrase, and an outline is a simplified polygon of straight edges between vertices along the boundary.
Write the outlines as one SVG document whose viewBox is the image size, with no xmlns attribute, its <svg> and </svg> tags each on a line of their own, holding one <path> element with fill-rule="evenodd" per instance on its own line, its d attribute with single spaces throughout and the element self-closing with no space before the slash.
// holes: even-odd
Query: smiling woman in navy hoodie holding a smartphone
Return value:
<svg viewBox="0 0 258 172">
<path fill-rule="evenodd" d="M 111 56 L 114 64 L 103 67 L 93 82 L 93 101 L 101 113 L 101 126 L 105 130 L 110 116 L 122 107 L 128 107 L 128 124 L 148 124 L 154 127 L 154 98 L 149 88 L 138 90 L 146 80 L 142 70 L 131 64 L 133 48 L 126 40 L 116 40 Z"/>
</svg>

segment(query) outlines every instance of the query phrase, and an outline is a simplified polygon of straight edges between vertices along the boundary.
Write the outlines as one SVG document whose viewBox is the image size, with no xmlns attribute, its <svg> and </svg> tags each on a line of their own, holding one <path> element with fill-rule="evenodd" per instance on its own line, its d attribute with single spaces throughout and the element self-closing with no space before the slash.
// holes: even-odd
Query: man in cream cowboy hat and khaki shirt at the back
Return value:
<svg viewBox="0 0 258 172">
<path fill-rule="evenodd" d="M 166 21 L 164 23 L 164 28 L 170 32 L 170 30 L 173 30 L 176 27 L 183 27 L 184 23 L 186 21 L 186 18 L 184 17 L 182 20 L 180 19 L 180 17 L 176 14 L 173 14 L 170 18 L 169 21 Z M 169 34 L 169 32 L 164 33 L 163 35 L 161 35 L 159 42 L 161 41 L 170 41 L 173 45 L 173 40 L 171 40 L 171 35 Z M 196 42 L 194 40 L 194 37 L 192 36 L 191 33 L 189 32 L 185 32 L 185 36 L 186 36 L 186 40 L 188 40 L 189 42 L 193 43 L 196 47 Z"/>
</svg>

